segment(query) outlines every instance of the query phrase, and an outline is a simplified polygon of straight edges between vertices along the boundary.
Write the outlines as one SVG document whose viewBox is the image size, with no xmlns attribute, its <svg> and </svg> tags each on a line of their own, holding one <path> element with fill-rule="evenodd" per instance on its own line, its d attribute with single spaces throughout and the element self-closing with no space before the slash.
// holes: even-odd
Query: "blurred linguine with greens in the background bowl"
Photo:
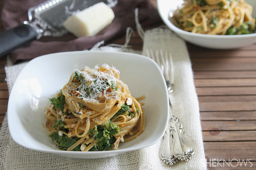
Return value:
<svg viewBox="0 0 256 170">
<path fill-rule="evenodd" d="M 184 0 L 175 11 L 175 25 L 192 33 L 236 35 L 255 33 L 253 8 L 244 0 Z"/>
</svg>

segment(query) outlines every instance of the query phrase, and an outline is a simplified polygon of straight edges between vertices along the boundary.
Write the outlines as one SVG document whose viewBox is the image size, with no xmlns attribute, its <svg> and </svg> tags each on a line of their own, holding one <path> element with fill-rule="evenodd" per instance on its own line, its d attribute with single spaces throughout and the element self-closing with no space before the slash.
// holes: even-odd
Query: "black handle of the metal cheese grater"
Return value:
<svg viewBox="0 0 256 170">
<path fill-rule="evenodd" d="M 27 24 L 0 33 L 0 57 L 36 39 L 36 31 Z"/>
</svg>

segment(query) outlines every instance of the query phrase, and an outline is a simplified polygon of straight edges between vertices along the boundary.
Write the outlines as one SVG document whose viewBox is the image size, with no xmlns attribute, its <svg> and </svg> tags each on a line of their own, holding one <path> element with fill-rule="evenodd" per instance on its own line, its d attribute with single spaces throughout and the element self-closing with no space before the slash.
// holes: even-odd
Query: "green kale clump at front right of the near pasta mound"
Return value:
<svg viewBox="0 0 256 170">
<path fill-rule="evenodd" d="M 92 147 L 90 151 L 95 150 L 109 150 L 111 144 L 114 144 L 116 138 L 114 135 L 119 133 L 120 127 L 116 124 L 108 121 L 104 125 L 98 125 L 89 131 L 93 135 L 94 139 L 99 140 L 97 146 Z"/>
</svg>

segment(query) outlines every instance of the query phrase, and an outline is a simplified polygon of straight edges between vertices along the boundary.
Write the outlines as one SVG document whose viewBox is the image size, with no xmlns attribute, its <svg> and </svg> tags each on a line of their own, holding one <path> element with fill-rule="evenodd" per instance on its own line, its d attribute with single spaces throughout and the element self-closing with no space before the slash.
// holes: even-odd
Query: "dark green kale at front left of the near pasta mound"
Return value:
<svg viewBox="0 0 256 170">
<path fill-rule="evenodd" d="M 59 136 L 58 132 L 51 133 L 49 136 L 52 138 L 52 141 L 54 141 L 58 145 L 58 148 L 62 150 L 67 150 L 67 148 L 77 142 L 76 139 L 73 139 L 72 137 L 68 138 L 65 134 L 63 134 L 63 136 Z M 75 147 L 73 150 L 80 151 L 80 146 L 81 144 Z"/>
</svg>

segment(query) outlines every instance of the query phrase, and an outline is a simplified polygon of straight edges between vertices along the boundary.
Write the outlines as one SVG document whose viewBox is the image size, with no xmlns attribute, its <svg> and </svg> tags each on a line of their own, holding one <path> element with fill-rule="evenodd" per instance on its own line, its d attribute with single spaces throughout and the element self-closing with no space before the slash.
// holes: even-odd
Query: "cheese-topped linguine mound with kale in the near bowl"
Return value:
<svg viewBox="0 0 256 170">
<path fill-rule="evenodd" d="M 116 150 L 145 127 L 141 104 L 119 79 L 119 71 L 107 64 L 75 70 L 50 101 L 46 127 L 62 150 Z"/>
</svg>

